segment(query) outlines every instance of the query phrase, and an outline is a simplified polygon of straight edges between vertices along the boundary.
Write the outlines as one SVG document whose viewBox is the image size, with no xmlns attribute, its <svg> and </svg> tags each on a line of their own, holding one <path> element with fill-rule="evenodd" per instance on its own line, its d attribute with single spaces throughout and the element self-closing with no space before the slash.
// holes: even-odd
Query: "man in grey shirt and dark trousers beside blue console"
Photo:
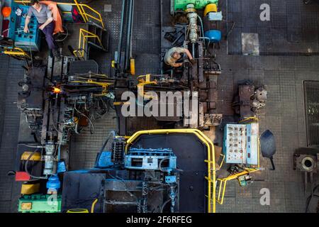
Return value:
<svg viewBox="0 0 319 227">
<path fill-rule="evenodd" d="M 39 23 L 39 29 L 45 34 L 45 40 L 47 40 L 47 45 L 50 49 L 50 55 L 53 55 L 53 57 L 57 58 L 57 60 L 60 60 L 60 52 L 57 50 L 57 45 L 55 44 L 55 40 L 53 38 L 55 23 L 53 21 L 52 12 L 45 4 L 39 3 L 38 0 L 31 0 L 30 5 L 31 6 L 29 8 L 28 15 L 26 16 L 26 25 L 24 26 L 23 31 L 25 33 L 29 32 L 28 24 L 30 22 L 31 16 L 34 15 Z"/>
</svg>

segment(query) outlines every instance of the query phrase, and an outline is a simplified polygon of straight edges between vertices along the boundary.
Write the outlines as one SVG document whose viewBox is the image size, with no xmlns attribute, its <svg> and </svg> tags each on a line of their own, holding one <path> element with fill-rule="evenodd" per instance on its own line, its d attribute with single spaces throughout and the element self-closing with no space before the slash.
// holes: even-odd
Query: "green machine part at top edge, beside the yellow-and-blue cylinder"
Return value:
<svg viewBox="0 0 319 227">
<path fill-rule="evenodd" d="M 218 0 L 171 0 L 171 14 L 184 11 L 188 4 L 194 4 L 195 9 L 204 9 L 208 4 L 218 4 Z"/>
</svg>

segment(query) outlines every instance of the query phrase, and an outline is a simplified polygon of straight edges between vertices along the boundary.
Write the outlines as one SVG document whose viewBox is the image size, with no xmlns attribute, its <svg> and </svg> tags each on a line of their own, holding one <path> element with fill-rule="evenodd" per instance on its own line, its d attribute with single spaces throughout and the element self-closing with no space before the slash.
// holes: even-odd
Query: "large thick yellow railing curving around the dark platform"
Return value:
<svg viewBox="0 0 319 227">
<path fill-rule="evenodd" d="M 136 140 L 140 135 L 145 134 L 167 134 L 167 133 L 191 133 L 197 136 L 202 143 L 207 147 L 207 160 L 204 162 L 208 163 L 207 177 L 205 179 L 208 181 L 208 213 L 216 213 L 216 162 L 215 162 L 215 148 L 213 142 L 201 131 L 194 128 L 184 128 L 184 129 L 157 129 L 150 131 L 138 131 L 134 133 L 125 145 L 125 153 L 128 152 L 129 146 Z M 213 204 L 213 207 L 212 207 Z"/>
</svg>

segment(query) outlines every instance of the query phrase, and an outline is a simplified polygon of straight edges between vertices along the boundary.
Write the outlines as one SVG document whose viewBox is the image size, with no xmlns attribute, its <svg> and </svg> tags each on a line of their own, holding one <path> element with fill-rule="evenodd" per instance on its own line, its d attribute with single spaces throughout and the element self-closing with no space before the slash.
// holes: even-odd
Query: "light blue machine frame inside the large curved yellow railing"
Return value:
<svg viewBox="0 0 319 227">
<path fill-rule="evenodd" d="M 130 170 L 161 170 L 171 172 L 177 167 L 172 149 L 130 148 L 125 155 L 124 167 Z"/>
</svg>

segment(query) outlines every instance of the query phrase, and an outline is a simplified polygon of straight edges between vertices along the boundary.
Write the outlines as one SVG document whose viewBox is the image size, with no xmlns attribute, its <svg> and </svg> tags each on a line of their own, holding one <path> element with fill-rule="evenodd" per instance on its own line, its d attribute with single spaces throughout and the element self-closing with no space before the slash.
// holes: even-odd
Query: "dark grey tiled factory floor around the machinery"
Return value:
<svg viewBox="0 0 319 227">
<path fill-rule="evenodd" d="M 163 14 L 169 10 L 169 0 L 163 1 Z M 303 173 L 293 170 L 293 152 L 307 145 L 303 82 L 318 80 L 319 73 L 319 5 L 303 5 L 302 0 L 223 0 L 223 16 L 235 21 L 233 32 L 222 40 L 216 50 L 216 60 L 223 73 L 218 80 L 218 109 L 225 121 L 233 120 L 231 103 L 237 84 L 250 79 L 267 87 L 266 107 L 260 111 L 260 131 L 271 130 L 276 136 L 276 170 L 271 171 L 269 160 L 261 159 L 264 171 L 254 174 L 254 183 L 240 187 L 229 182 L 223 205 L 218 212 L 304 212 L 306 197 Z M 271 7 L 271 21 L 260 21 L 259 6 Z M 118 45 L 121 23 L 121 1 L 93 1 L 90 6 L 101 9 L 110 31 L 108 53 L 96 53 L 100 70 L 110 70 L 113 53 Z M 133 26 L 133 55 L 136 74 L 159 74 L 161 54 L 161 11 L 158 0 L 135 1 Z M 229 29 L 229 25 L 227 27 Z M 242 33 L 258 33 L 259 55 L 242 55 Z M 13 168 L 20 115 L 16 109 L 18 85 L 23 77 L 22 62 L 0 56 L 0 211 L 16 211 L 18 187 L 6 172 Z M 94 165 L 96 153 L 109 131 L 116 129 L 116 114 L 110 111 L 96 121 L 96 134 L 89 130 L 74 135 L 70 151 L 73 170 Z M 204 165 L 204 163 L 203 163 Z M 318 175 L 315 177 L 317 182 Z M 204 179 L 203 179 L 204 180 Z M 270 205 L 259 202 L 260 190 L 269 189 Z M 204 195 L 203 195 L 204 196 Z M 312 204 L 315 206 L 315 204 Z"/>
</svg>

